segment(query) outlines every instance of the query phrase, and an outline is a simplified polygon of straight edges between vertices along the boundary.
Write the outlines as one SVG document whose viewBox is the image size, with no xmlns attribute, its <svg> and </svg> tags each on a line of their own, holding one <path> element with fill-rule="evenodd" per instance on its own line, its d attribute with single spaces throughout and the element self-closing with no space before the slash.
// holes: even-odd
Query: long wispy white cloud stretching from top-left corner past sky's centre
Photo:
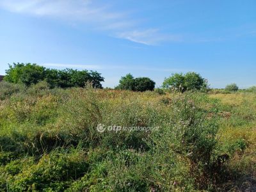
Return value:
<svg viewBox="0 0 256 192">
<path fill-rule="evenodd" d="M 90 0 L 1 0 L 0 7 L 10 12 L 26 13 L 38 17 L 52 17 L 92 24 L 94 29 L 108 35 L 145 45 L 164 41 L 177 41 L 177 36 L 164 35 L 159 29 L 138 30 L 138 20 L 129 12 L 116 12 L 113 7 Z M 122 11 L 122 12 L 121 12 Z"/>
</svg>

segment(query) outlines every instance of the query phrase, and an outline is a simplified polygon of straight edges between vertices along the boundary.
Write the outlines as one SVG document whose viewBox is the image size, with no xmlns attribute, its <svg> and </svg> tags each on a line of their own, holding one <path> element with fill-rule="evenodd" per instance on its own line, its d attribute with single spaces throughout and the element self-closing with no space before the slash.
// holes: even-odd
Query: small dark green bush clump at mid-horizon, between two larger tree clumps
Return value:
<svg viewBox="0 0 256 192">
<path fill-rule="evenodd" d="M 116 89 L 145 92 L 154 90 L 155 84 L 156 83 L 148 77 L 134 78 L 131 74 L 127 74 L 126 76 L 121 77 Z"/>
</svg>

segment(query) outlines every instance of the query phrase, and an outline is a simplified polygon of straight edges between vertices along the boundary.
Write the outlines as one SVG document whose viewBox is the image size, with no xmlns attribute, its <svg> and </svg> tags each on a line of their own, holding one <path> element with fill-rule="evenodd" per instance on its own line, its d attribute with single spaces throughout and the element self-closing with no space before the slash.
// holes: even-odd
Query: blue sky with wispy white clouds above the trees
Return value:
<svg viewBox="0 0 256 192">
<path fill-rule="evenodd" d="M 97 70 L 104 86 L 161 86 L 199 72 L 211 87 L 256 84 L 256 1 L 0 0 L 0 74 L 8 63 Z"/>
</svg>

